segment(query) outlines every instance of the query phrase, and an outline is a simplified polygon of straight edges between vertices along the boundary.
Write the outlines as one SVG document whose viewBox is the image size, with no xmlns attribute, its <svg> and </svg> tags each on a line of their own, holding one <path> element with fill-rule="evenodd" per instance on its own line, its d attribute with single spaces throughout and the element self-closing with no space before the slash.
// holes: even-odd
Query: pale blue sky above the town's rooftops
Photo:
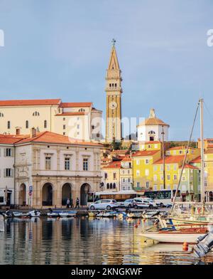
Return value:
<svg viewBox="0 0 213 279">
<path fill-rule="evenodd" d="M 170 139 L 186 140 L 204 98 L 204 137 L 213 137 L 212 14 L 212 0 L 0 0 L 0 100 L 92 101 L 105 116 L 115 38 L 122 116 L 153 107 Z"/>
</svg>

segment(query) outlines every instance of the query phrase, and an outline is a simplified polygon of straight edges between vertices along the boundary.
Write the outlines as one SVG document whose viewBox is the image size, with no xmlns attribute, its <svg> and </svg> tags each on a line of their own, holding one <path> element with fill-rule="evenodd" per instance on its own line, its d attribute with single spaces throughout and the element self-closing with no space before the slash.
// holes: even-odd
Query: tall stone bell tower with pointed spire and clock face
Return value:
<svg viewBox="0 0 213 279">
<path fill-rule="evenodd" d="M 106 76 L 107 93 L 107 119 L 106 119 L 106 142 L 121 142 L 121 70 L 116 55 L 116 41 L 112 40 L 111 55 Z"/>
</svg>

